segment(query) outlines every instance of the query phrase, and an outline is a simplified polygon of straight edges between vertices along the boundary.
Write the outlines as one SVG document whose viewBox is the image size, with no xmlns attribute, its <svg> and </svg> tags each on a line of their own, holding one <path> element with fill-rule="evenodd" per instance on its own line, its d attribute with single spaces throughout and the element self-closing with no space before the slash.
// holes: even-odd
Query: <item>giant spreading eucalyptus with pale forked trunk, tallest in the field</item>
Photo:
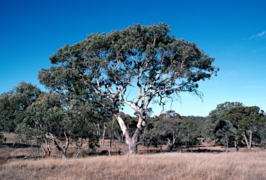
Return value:
<svg viewBox="0 0 266 180">
<path fill-rule="evenodd" d="M 201 97 L 197 82 L 218 71 L 212 65 L 214 58 L 195 43 L 170 35 L 170 26 L 165 23 L 89 34 L 87 39 L 57 50 L 50 60 L 55 66 L 39 72 L 40 83 L 69 96 L 87 93 L 108 101 L 111 105 L 104 107 L 121 127 L 127 154 L 137 152 L 152 101 L 163 106 L 168 99 L 179 99 L 180 92 Z M 121 106 L 139 114 L 132 136 L 121 117 Z"/>
</svg>

